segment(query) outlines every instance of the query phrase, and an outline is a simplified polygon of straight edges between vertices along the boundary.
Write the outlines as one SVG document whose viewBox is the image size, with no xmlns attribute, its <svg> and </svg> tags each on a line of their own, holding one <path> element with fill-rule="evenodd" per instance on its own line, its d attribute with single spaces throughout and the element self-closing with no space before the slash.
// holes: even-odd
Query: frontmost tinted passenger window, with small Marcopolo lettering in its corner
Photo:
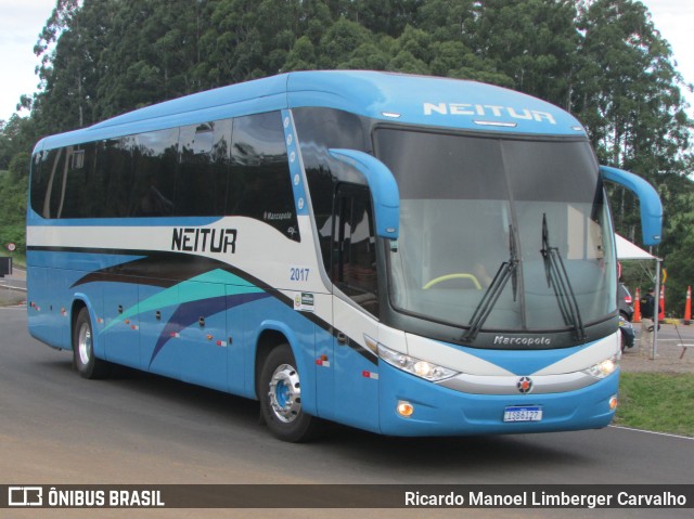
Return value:
<svg viewBox="0 0 694 519">
<path fill-rule="evenodd" d="M 279 112 L 234 119 L 228 213 L 264 221 L 299 241 Z"/>
</svg>

